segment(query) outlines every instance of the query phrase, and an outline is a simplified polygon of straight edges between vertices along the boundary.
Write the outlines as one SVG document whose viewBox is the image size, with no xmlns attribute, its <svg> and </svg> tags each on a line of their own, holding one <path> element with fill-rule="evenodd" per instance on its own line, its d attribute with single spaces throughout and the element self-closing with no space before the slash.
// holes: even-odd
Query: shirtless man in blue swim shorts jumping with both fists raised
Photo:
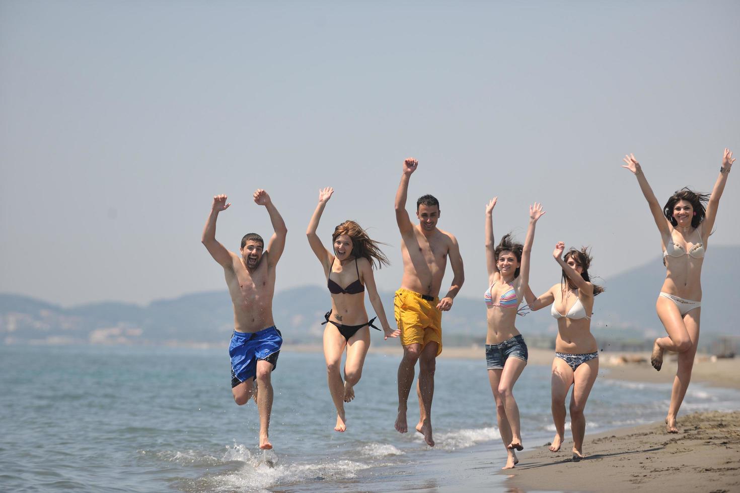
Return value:
<svg viewBox="0 0 740 493">
<path fill-rule="evenodd" d="M 275 370 L 283 344 L 280 330 L 272 320 L 272 296 L 275 294 L 275 265 L 283 254 L 288 229 L 266 191 L 255 191 L 254 198 L 255 203 L 267 209 L 275 231 L 266 250 L 262 237 L 256 233 L 244 235 L 238 255 L 216 240 L 218 213 L 231 205 L 226 203 L 226 195 L 213 197 L 202 241 L 213 259 L 223 267 L 234 303 L 234 335 L 229 344 L 234 401 L 243 406 L 252 393 L 256 395 L 260 412 L 260 449 L 272 449 L 268 437 L 272 410 L 270 373 Z"/>
</svg>

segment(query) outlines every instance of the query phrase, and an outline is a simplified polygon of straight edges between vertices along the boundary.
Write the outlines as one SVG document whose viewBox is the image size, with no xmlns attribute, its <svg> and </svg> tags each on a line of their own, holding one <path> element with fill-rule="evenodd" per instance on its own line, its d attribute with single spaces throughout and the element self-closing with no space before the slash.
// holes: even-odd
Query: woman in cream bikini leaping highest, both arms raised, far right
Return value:
<svg viewBox="0 0 740 493">
<path fill-rule="evenodd" d="M 653 219 L 660 231 L 663 245 L 663 262 L 667 271 L 656 302 L 656 310 L 668 336 L 656 339 L 650 362 L 656 370 L 660 370 L 665 350 L 679 353 L 679 366 L 665 418 L 667 432 L 678 433 L 676 415 L 689 386 L 696 345 L 699 342 L 704 251 L 717 217 L 719 199 L 735 158 L 732 152 L 724 149 L 719 177 L 712 194 L 698 194 L 682 188 L 668 199 L 663 208 L 647 184 L 645 174 L 635 157 L 630 154 L 624 161 L 626 165 L 622 165 L 622 168 L 629 169 L 637 177 L 637 183 L 650 205 L 650 212 L 653 213 Z"/>
</svg>

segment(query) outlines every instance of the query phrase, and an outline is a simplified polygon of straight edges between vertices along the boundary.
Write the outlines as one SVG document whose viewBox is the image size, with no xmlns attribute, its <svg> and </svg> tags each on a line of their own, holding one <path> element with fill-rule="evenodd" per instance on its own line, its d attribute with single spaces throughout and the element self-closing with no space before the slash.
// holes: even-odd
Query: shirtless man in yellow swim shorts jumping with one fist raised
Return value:
<svg viewBox="0 0 740 493">
<path fill-rule="evenodd" d="M 403 279 L 394 300 L 396 323 L 401 331 L 403 344 L 403 359 L 398 367 L 396 429 L 400 433 L 408 432 L 406 404 L 418 360 L 419 423 L 416 429 L 424 435 L 428 446 L 434 446 L 431 434 L 431 400 L 434 396 L 434 368 L 437 356 L 442 353 L 442 312 L 452 307 L 452 300 L 460 291 L 465 276 L 457 239 L 437 228 L 437 221 L 440 219 L 439 201 L 431 195 L 419 197 L 419 224 L 412 224 L 408 217 L 408 180 L 417 166 L 419 162 L 412 157 L 403 162 L 403 174 L 395 203 L 403 257 Z M 454 279 L 447 294 L 439 299 L 448 256 Z"/>
</svg>

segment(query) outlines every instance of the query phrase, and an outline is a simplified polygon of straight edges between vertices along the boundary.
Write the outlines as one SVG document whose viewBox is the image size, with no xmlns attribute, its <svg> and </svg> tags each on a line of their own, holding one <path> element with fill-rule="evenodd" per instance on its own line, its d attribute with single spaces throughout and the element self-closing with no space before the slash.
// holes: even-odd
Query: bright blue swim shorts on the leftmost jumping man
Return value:
<svg viewBox="0 0 740 493">
<path fill-rule="evenodd" d="M 229 344 L 229 356 L 232 360 L 232 388 L 249 378 L 255 378 L 258 359 L 268 361 L 272 364 L 272 370 L 275 370 L 277 356 L 280 355 L 282 345 L 283 336 L 275 325 L 252 333 L 235 330 Z"/>
</svg>

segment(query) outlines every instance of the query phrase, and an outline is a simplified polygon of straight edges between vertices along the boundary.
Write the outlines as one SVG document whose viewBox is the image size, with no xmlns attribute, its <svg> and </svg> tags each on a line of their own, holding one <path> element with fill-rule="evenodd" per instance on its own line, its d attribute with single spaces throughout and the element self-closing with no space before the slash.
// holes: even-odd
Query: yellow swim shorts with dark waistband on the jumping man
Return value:
<svg viewBox="0 0 740 493">
<path fill-rule="evenodd" d="M 408 289 L 396 291 L 393 307 L 396 324 L 401 331 L 401 345 L 437 343 L 437 356 L 442 353 L 442 311 L 440 299 L 423 299 L 420 293 Z"/>
</svg>

